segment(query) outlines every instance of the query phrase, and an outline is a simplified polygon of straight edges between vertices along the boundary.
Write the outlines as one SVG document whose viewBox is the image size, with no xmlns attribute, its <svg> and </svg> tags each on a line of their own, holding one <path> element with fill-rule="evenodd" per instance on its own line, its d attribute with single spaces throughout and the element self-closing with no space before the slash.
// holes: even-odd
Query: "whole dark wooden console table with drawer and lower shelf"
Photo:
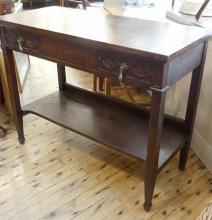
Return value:
<svg viewBox="0 0 212 220">
<path fill-rule="evenodd" d="M 19 142 L 25 142 L 23 116 L 33 113 L 145 161 L 144 208 L 150 210 L 157 173 L 178 151 L 185 169 L 207 48 L 204 29 L 62 7 L 5 15 L 0 27 Z M 56 62 L 59 91 L 21 106 L 13 50 Z M 151 90 L 150 111 L 68 84 L 66 65 Z M 190 71 L 185 119 L 164 114 L 167 90 Z"/>
</svg>

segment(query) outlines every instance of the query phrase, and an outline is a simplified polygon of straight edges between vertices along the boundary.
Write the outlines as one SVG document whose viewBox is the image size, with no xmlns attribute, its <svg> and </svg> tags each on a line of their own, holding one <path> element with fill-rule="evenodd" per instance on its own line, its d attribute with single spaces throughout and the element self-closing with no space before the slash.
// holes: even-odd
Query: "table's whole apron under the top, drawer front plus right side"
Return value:
<svg viewBox="0 0 212 220">
<path fill-rule="evenodd" d="M 143 88 L 162 90 L 196 68 L 202 59 L 204 43 L 193 46 L 168 63 L 147 60 L 111 49 L 102 49 L 44 36 L 25 30 L 3 29 L 2 44 L 12 50 L 50 60 L 75 69 L 118 80 L 121 66 L 124 79 Z M 168 66 L 168 69 L 166 67 Z"/>
</svg>

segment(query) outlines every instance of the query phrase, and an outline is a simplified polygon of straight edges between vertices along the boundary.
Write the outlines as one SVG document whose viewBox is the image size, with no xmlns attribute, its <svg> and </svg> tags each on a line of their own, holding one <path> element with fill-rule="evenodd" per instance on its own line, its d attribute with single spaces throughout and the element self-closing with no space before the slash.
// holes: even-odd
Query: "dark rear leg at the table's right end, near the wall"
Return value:
<svg viewBox="0 0 212 220">
<path fill-rule="evenodd" d="M 197 112 L 197 105 L 199 100 L 200 88 L 202 83 L 202 76 L 205 64 L 207 43 L 205 45 L 203 58 L 201 64 L 193 70 L 191 85 L 189 91 L 189 98 L 185 116 L 185 132 L 188 134 L 188 141 L 185 146 L 182 147 L 180 151 L 180 161 L 179 161 L 179 169 L 185 170 L 186 162 L 188 159 L 189 149 L 191 145 L 191 139 L 193 134 L 194 122 Z"/>
</svg>

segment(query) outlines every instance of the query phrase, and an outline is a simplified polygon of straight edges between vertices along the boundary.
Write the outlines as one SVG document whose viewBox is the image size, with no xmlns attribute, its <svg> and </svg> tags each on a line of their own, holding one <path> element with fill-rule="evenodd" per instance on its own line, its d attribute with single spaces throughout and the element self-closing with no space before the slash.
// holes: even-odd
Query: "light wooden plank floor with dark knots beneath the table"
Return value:
<svg viewBox="0 0 212 220">
<path fill-rule="evenodd" d="M 91 75 L 68 73 L 92 88 Z M 22 103 L 57 89 L 56 65 L 31 58 Z M 178 155 L 161 171 L 145 212 L 142 162 L 34 115 L 24 117 L 19 145 L 8 117 L 0 118 L 8 129 L 0 140 L 0 220 L 193 220 L 212 203 L 212 175 L 193 152 L 186 171 L 178 170 Z"/>
</svg>

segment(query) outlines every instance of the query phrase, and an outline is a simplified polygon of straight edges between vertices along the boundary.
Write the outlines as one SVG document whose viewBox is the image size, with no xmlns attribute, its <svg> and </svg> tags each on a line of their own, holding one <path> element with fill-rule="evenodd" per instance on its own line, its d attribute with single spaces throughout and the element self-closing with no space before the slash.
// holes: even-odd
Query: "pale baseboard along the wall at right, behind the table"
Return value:
<svg viewBox="0 0 212 220">
<path fill-rule="evenodd" d="M 196 131 L 193 132 L 192 143 L 193 151 L 212 173 L 212 146 Z"/>
</svg>

